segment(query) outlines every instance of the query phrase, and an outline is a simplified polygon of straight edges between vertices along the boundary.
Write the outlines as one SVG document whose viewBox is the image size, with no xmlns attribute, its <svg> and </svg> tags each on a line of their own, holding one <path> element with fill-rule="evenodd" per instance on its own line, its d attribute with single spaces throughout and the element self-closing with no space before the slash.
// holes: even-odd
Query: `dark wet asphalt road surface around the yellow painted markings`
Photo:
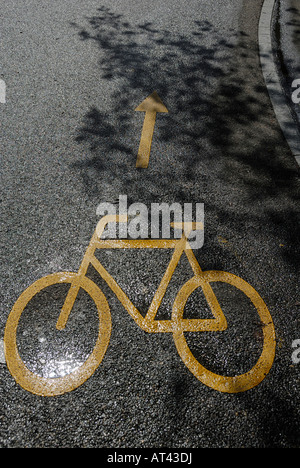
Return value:
<svg viewBox="0 0 300 468">
<path fill-rule="evenodd" d="M 300 338 L 299 169 L 261 74 L 262 2 L 249 3 L 3 5 L 0 338 L 27 286 L 78 270 L 99 203 L 127 195 L 148 207 L 204 203 L 205 243 L 195 252 L 202 269 L 229 271 L 257 290 L 277 348 L 259 386 L 219 393 L 184 366 L 171 334 L 140 330 L 91 271 L 112 313 L 103 362 L 84 385 L 54 398 L 24 391 L 0 364 L 2 447 L 299 447 L 300 364 L 291 357 Z M 169 114 L 157 117 L 149 168 L 137 170 L 143 116 L 134 109 L 154 90 Z M 169 255 L 108 251 L 101 261 L 145 311 Z M 184 261 L 161 318 L 192 276 Z M 197 336 L 199 359 L 220 374 L 246 372 L 261 331 L 236 291 L 216 288 L 233 332 Z M 56 346 L 68 365 L 84 359 L 97 322 L 88 308 L 74 316 L 75 338 L 62 344 L 47 314 L 39 301 L 24 314 L 18 345 L 31 370 L 53 376 Z"/>
</svg>

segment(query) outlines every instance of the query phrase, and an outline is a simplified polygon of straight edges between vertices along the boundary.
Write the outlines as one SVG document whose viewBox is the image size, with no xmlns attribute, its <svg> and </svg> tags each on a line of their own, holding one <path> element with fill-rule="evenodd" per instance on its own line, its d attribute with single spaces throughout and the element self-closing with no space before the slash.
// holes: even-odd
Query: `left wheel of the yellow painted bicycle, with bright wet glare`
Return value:
<svg viewBox="0 0 300 468">
<path fill-rule="evenodd" d="M 6 362 L 16 382 L 25 390 L 42 396 L 62 395 L 82 385 L 101 363 L 111 335 L 111 314 L 107 300 L 102 291 L 87 277 L 80 279 L 80 289 L 92 299 L 97 310 L 98 331 L 95 346 L 88 358 L 67 375 L 45 378 L 32 372 L 23 362 L 17 344 L 17 330 L 22 314 L 30 302 L 39 293 L 54 285 L 70 284 L 76 279 L 76 273 L 55 273 L 33 283 L 15 303 L 6 323 L 4 346 Z M 76 301 L 78 301 L 78 297 Z M 59 314 L 59 310 L 57 311 Z M 96 320 L 97 320 L 96 319 Z M 53 327 L 55 328 L 55 327 Z M 63 332 L 57 332 L 62 334 Z M 60 335 L 64 339 L 64 335 Z"/>
</svg>

